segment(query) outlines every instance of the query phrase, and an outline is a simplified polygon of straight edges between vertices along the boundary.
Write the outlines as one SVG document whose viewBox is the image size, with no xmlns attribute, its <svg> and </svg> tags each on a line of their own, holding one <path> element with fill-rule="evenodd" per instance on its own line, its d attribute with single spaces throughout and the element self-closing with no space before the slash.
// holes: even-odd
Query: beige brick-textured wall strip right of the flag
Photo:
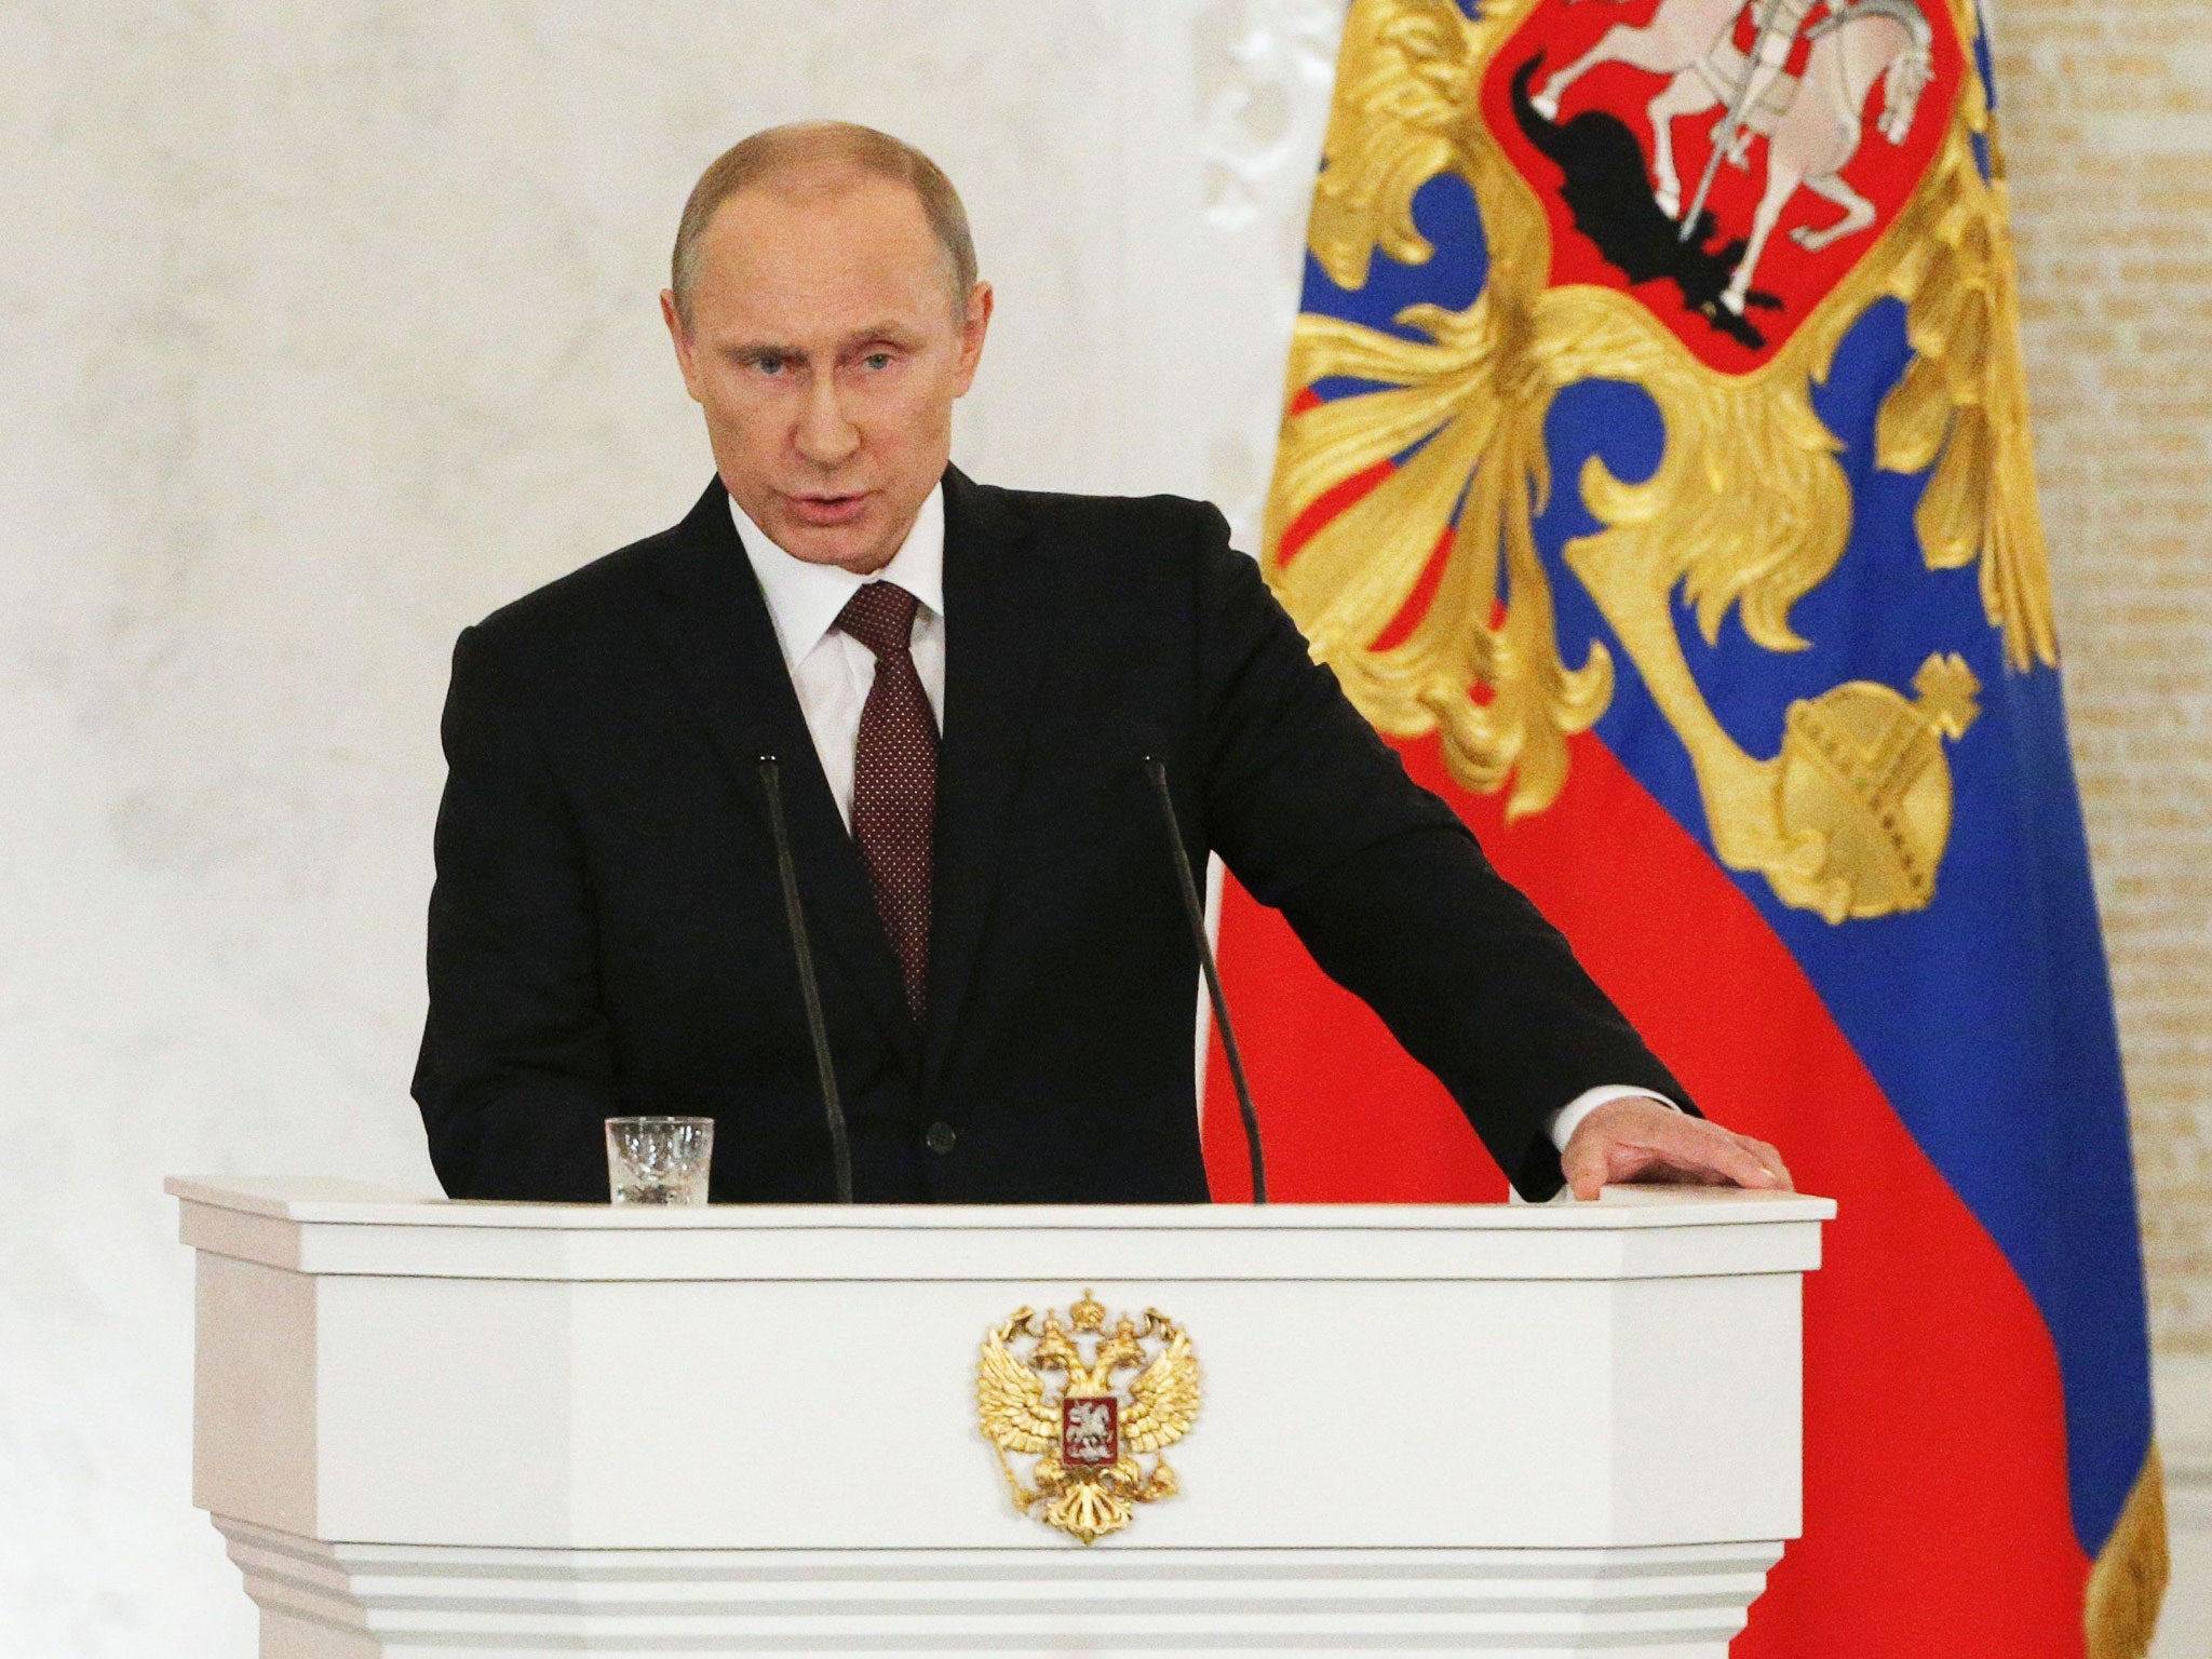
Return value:
<svg viewBox="0 0 2212 1659">
<path fill-rule="evenodd" d="M 2212 1356 L 2212 0 L 1993 18 L 2152 1327 Z"/>
</svg>

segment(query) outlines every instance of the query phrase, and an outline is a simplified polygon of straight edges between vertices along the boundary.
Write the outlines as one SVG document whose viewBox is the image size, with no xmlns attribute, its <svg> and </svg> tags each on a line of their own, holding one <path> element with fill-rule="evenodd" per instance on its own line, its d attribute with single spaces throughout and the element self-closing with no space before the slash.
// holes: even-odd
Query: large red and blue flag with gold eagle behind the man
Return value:
<svg viewBox="0 0 2212 1659">
<path fill-rule="evenodd" d="M 1270 582 L 1840 1201 L 1763 1659 L 2141 1655 L 2163 1586 L 1991 102 L 1971 0 L 1358 0 L 1310 226 Z M 1283 1199 L 1504 1194 L 1234 885 L 1221 956 Z"/>
</svg>

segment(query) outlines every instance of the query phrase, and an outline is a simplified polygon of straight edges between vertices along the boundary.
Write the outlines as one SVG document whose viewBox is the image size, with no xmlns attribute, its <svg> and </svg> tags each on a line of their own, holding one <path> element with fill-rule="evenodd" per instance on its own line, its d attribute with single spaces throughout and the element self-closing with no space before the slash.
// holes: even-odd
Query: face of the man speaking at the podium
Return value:
<svg viewBox="0 0 2212 1659">
<path fill-rule="evenodd" d="M 902 184 L 841 170 L 739 190 L 699 243 L 690 325 L 661 312 L 721 482 L 807 564 L 876 571 L 945 473 L 991 288 Z"/>
</svg>

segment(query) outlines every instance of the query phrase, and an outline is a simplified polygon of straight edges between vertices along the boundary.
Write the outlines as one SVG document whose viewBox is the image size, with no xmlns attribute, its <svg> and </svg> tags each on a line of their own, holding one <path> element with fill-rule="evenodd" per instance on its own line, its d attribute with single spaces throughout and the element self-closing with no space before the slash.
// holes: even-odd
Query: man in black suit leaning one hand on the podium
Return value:
<svg viewBox="0 0 2212 1659">
<path fill-rule="evenodd" d="M 1405 776 L 1212 507 L 949 467 L 991 288 L 925 157 L 748 139 L 661 303 L 717 480 L 453 653 L 416 1073 L 449 1192 L 604 1199 L 602 1121 L 677 1113 L 714 1117 L 714 1199 L 830 1197 L 761 757 L 863 1201 L 1208 1197 L 1148 757 L 1190 858 L 1285 911 L 1522 1192 L 1787 1186 Z"/>
</svg>

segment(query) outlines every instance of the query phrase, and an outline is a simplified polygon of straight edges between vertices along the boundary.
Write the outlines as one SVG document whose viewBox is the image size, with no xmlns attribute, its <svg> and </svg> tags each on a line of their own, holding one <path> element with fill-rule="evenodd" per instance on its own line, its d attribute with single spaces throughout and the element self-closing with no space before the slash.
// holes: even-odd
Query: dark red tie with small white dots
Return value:
<svg viewBox="0 0 2212 1659">
<path fill-rule="evenodd" d="M 911 650 L 918 606 L 898 584 L 869 582 L 836 617 L 841 630 L 876 653 L 876 684 L 860 706 L 852 763 L 852 834 L 867 858 L 876 914 L 898 951 L 916 1024 L 929 1009 L 929 860 L 938 827 L 938 721 Z"/>
</svg>

